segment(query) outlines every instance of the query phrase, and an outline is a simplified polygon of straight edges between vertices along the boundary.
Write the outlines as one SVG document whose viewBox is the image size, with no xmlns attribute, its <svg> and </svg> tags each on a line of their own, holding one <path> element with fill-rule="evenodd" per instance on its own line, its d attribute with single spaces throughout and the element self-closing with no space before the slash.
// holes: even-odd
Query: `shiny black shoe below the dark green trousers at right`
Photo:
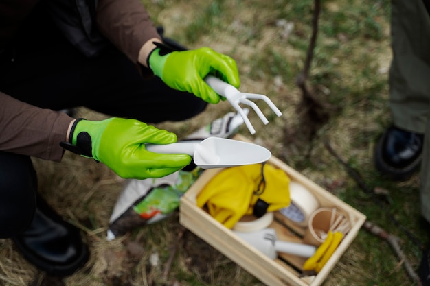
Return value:
<svg viewBox="0 0 430 286">
<path fill-rule="evenodd" d="M 388 128 L 376 146 L 376 169 L 392 180 L 409 179 L 420 169 L 423 143 L 423 134 Z"/>
</svg>

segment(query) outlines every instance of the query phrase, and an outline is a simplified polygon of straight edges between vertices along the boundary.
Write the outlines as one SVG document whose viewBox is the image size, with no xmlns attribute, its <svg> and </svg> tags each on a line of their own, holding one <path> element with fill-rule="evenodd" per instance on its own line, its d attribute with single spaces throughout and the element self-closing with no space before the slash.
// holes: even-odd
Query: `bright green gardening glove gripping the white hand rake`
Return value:
<svg viewBox="0 0 430 286">
<path fill-rule="evenodd" d="M 148 56 L 148 67 L 171 88 L 187 91 L 205 102 L 217 104 L 220 96 L 205 83 L 207 75 L 215 75 L 236 88 L 240 86 L 236 62 L 229 56 L 208 47 L 173 51 L 166 45 L 155 45 L 157 48 Z"/>
</svg>

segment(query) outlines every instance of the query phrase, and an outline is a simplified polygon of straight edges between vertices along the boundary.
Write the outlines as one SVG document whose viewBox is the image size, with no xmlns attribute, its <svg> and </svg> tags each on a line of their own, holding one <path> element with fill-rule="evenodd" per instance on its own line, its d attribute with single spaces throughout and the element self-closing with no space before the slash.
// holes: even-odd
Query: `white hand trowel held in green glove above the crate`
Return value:
<svg viewBox="0 0 430 286">
<path fill-rule="evenodd" d="M 156 153 L 188 154 L 202 169 L 257 164 L 265 162 L 271 157 L 271 152 L 260 145 L 219 137 L 166 145 L 147 144 L 146 150 Z"/>
</svg>

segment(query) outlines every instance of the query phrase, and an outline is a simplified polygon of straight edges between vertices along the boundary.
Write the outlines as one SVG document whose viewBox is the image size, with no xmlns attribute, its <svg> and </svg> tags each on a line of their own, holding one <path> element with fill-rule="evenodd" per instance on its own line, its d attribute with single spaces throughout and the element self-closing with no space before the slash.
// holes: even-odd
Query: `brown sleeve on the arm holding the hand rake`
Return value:
<svg viewBox="0 0 430 286">
<path fill-rule="evenodd" d="M 100 31 L 135 63 L 144 43 L 160 38 L 139 0 L 99 0 L 96 14 Z"/>
</svg>

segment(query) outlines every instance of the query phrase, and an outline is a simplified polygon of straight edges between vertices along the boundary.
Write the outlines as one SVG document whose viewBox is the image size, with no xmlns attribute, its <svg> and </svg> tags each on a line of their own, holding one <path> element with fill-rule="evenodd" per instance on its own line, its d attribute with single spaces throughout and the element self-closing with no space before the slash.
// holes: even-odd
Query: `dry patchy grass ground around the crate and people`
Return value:
<svg viewBox="0 0 430 286">
<path fill-rule="evenodd" d="M 167 36 L 191 48 L 208 46 L 233 57 L 240 69 L 241 90 L 266 94 L 282 110 L 283 116 L 269 117 L 267 126 L 250 115 L 257 130 L 253 140 L 367 215 L 370 222 L 398 236 L 407 259 L 417 267 L 420 244 L 425 245 L 429 237 L 418 207 L 418 176 L 407 182 L 390 182 L 372 163 L 378 136 L 390 123 L 389 1 L 321 2 L 308 86 L 321 102 L 335 108 L 313 141 L 308 141 L 300 134 L 310 123 L 299 120 L 297 107 L 302 94 L 295 78 L 306 57 L 313 1 L 143 1 Z M 229 111 L 229 105 L 222 102 L 194 119 L 159 127 L 184 136 Z M 84 108 L 79 112 L 89 119 L 105 116 Z M 269 110 L 264 112 L 269 114 Z M 251 136 L 245 128 L 240 133 Z M 357 186 L 328 152 L 326 142 L 361 174 L 367 186 L 386 191 L 382 203 Z M 49 280 L 22 259 L 11 241 L 2 240 L 0 285 L 262 285 L 185 231 L 177 215 L 122 239 L 106 241 L 106 226 L 124 180 L 102 164 L 69 153 L 61 164 L 34 163 L 41 193 L 59 213 L 82 228 L 91 247 L 91 261 L 63 281 Z M 177 252 L 167 272 L 175 245 Z M 414 285 L 403 262 L 386 241 L 361 230 L 324 285 Z"/>
</svg>

